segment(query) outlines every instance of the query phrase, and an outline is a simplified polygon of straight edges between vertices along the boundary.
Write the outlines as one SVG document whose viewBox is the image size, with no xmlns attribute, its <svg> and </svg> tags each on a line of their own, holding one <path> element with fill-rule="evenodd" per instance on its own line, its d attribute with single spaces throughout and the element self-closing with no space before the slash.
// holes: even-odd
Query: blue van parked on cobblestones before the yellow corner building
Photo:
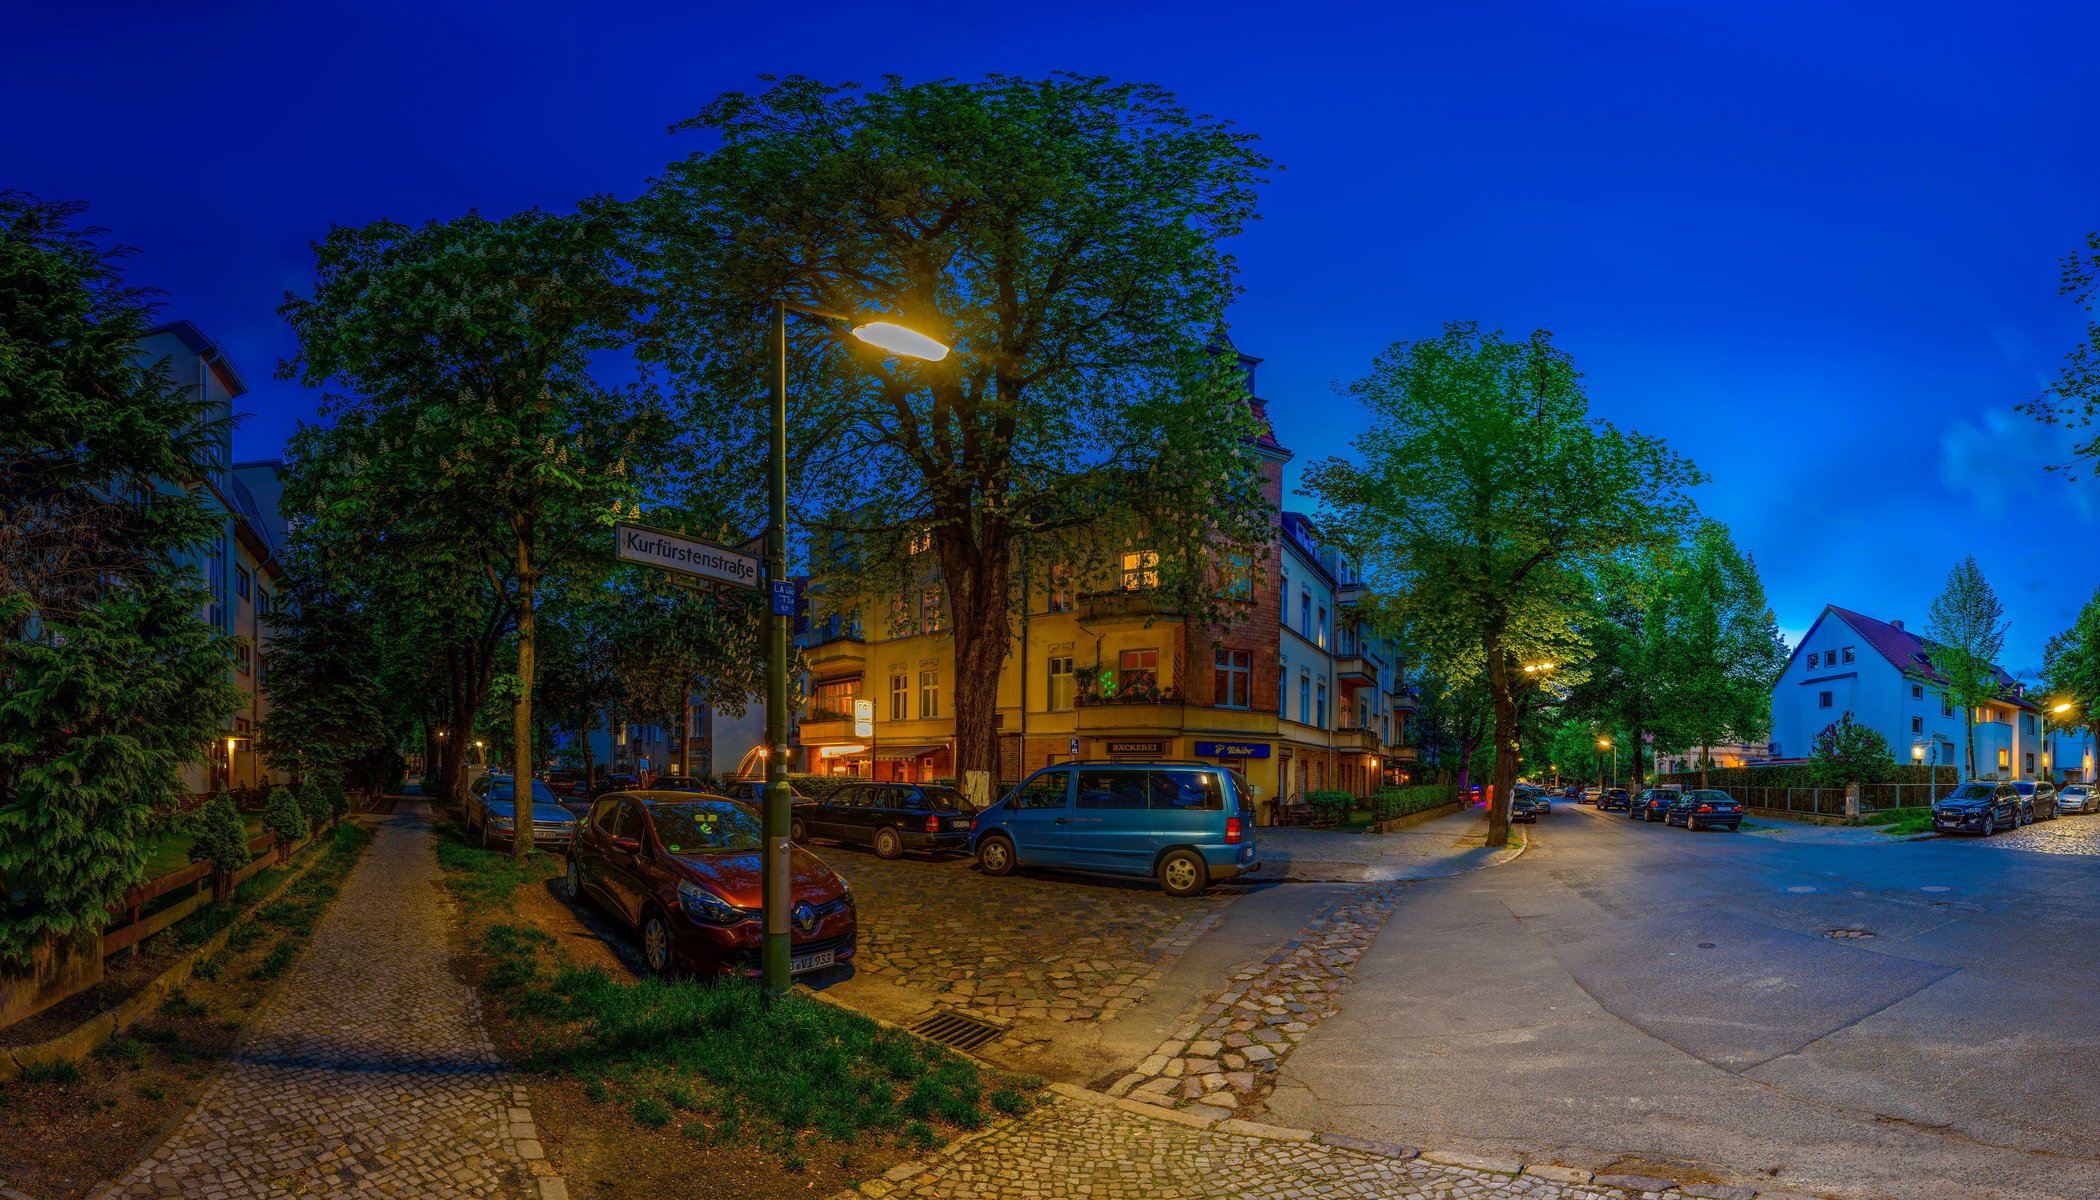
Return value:
<svg viewBox="0 0 2100 1200">
<path fill-rule="evenodd" d="M 1058 763 L 976 813 L 970 851 L 985 874 L 1147 874 L 1170 895 L 1195 895 L 1262 866 L 1252 799 L 1210 763 Z"/>
</svg>

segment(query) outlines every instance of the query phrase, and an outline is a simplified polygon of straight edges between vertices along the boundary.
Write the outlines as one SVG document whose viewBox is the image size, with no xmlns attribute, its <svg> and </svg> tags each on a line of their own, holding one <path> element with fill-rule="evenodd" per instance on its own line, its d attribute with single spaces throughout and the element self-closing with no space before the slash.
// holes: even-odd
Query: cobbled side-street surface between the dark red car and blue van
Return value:
<svg viewBox="0 0 2100 1200">
<path fill-rule="evenodd" d="M 1136 1005 L 1235 893 L 1010 874 L 962 857 L 813 847 L 859 895 L 855 969 L 1004 1021 L 1096 1021 Z"/>
</svg>

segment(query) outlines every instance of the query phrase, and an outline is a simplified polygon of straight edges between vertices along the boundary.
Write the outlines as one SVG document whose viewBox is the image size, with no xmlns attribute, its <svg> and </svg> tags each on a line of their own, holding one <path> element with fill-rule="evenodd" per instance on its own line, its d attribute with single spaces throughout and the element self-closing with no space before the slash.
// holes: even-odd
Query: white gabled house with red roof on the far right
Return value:
<svg viewBox="0 0 2100 1200">
<path fill-rule="evenodd" d="M 1816 733 L 1846 712 L 1877 729 L 1898 763 L 1968 771 L 1964 715 L 1932 664 L 1934 643 L 1900 620 L 1823 605 L 1772 685 L 1772 757 L 1806 759 Z M 1984 780 L 2094 780 L 2083 729 L 2052 731 L 2043 698 L 1997 670 L 1999 694 L 1976 706 L 1976 767 Z"/>
</svg>

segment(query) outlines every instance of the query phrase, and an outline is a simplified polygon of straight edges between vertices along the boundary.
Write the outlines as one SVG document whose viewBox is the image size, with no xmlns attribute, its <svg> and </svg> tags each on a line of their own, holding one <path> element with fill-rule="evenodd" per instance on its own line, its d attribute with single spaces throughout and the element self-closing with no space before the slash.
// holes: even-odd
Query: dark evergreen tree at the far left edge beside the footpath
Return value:
<svg viewBox="0 0 2100 1200">
<path fill-rule="evenodd" d="M 187 553 L 204 401 L 139 361 L 151 294 L 80 204 L 0 193 L 0 958 L 88 935 L 237 706 Z"/>
</svg>

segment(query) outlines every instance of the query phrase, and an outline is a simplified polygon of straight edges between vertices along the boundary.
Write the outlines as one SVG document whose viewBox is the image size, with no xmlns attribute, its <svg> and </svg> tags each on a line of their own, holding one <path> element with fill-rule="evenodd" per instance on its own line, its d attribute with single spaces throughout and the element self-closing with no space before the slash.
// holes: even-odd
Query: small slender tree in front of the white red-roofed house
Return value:
<svg viewBox="0 0 2100 1200">
<path fill-rule="evenodd" d="M 1787 643 L 1758 565 L 1720 521 L 1699 521 L 1667 591 L 1661 679 L 1670 731 L 1674 744 L 1699 748 L 1703 788 L 1712 746 L 1770 738 L 1772 683 L 1787 668 Z"/>
</svg>

